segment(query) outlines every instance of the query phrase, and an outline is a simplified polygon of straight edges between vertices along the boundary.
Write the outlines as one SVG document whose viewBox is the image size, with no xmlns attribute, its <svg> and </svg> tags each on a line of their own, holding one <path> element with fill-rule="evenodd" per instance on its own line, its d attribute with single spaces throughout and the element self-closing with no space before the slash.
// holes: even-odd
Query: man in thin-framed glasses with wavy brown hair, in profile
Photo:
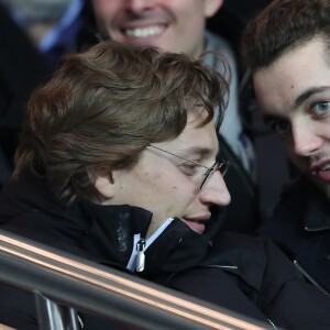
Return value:
<svg viewBox="0 0 330 330">
<path fill-rule="evenodd" d="M 0 228 L 268 324 L 329 328 L 330 300 L 274 244 L 218 232 L 227 92 L 183 54 L 103 42 L 66 57 L 30 100 Z M 36 329 L 31 297 L 2 285 L 0 322 Z"/>
</svg>

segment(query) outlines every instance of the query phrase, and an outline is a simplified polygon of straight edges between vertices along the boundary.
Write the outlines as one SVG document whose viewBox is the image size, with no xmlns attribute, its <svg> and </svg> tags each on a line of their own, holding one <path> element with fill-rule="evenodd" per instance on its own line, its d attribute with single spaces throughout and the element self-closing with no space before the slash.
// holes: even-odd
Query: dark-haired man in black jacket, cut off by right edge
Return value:
<svg viewBox="0 0 330 330">
<path fill-rule="evenodd" d="M 274 0 L 249 25 L 242 55 L 265 122 L 302 177 L 260 232 L 330 295 L 330 1 Z M 276 164 L 274 164 L 276 167 Z M 272 173 L 272 168 L 270 168 Z"/>
</svg>

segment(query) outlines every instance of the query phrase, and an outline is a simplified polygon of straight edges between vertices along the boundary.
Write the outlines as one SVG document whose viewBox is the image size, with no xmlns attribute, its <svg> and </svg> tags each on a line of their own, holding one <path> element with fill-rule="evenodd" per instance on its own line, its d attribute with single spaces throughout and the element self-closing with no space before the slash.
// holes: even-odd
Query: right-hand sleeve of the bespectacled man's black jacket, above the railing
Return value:
<svg viewBox="0 0 330 330">
<path fill-rule="evenodd" d="M 204 265 L 167 285 L 253 319 L 297 330 L 330 329 L 330 299 L 270 240 L 222 234 Z"/>
</svg>

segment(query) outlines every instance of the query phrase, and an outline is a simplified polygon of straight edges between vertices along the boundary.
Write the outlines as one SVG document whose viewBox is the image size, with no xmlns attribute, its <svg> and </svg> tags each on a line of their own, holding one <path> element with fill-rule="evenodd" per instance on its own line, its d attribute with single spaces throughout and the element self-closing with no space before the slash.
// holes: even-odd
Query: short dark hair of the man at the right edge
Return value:
<svg viewBox="0 0 330 330">
<path fill-rule="evenodd" d="M 255 70 L 315 36 L 322 37 L 329 51 L 330 0 L 273 0 L 248 24 L 242 59 Z"/>
</svg>

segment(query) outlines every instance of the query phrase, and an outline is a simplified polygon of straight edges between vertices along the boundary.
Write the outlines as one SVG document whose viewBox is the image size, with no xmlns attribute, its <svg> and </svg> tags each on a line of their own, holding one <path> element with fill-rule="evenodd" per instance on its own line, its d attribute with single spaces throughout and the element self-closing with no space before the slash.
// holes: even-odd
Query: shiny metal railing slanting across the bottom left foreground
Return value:
<svg viewBox="0 0 330 330">
<path fill-rule="evenodd" d="M 0 282 L 35 296 L 43 330 L 79 329 L 77 311 L 109 319 L 109 323 L 113 320 L 123 324 L 122 329 L 271 329 L 204 300 L 2 230 Z"/>
</svg>

